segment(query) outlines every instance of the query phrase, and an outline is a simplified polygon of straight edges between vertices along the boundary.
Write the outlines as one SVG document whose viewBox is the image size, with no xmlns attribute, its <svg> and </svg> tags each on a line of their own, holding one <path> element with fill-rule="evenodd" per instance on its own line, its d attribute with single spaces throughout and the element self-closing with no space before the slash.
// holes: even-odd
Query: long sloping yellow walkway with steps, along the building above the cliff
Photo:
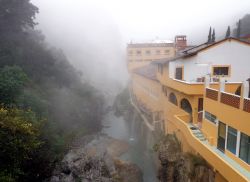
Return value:
<svg viewBox="0 0 250 182">
<path fill-rule="evenodd" d="M 250 181 L 250 173 L 242 168 L 234 160 L 212 147 L 206 139 L 203 139 L 199 129 L 187 123 L 187 115 L 175 115 L 173 124 L 178 128 L 186 141 L 199 153 L 213 168 L 222 174 L 228 181 Z"/>
</svg>

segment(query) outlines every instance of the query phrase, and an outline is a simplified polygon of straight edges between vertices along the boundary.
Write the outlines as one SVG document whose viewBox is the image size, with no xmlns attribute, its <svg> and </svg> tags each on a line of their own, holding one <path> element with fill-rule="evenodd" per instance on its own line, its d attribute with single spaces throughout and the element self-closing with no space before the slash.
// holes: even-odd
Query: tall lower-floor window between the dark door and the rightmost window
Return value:
<svg viewBox="0 0 250 182">
<path fill-rule="evenodd" d="M 236 154 L 237 130 L 228 126 L 227 130 L 227 150 Z"/>
</svg>

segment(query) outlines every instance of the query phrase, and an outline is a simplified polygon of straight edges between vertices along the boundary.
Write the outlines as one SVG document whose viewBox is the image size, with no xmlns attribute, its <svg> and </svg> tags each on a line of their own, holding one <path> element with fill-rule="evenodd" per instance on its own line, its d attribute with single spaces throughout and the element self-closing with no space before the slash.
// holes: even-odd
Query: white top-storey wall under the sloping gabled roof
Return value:
<svg viewBox="0 0 250 182">
<path fill-rule="evenodd" d="M 198 77 L 210 74 L 212 65 L 231 65 L 231 77 L 226 77 L 226 80 L 245 81 L 250 78 L 250 45 L 235 40 L 222 42 L 196 56 L 170 62 L 169 73 L 173 78 L 175 68 L 184 66 L 184 80 L 195 82 Z"/>
</svg>

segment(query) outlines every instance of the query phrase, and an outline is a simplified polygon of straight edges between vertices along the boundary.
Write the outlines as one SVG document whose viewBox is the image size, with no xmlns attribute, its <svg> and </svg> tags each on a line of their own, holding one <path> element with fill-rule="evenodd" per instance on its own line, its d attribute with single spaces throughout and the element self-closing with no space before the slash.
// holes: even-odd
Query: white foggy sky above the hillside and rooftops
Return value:
<svg viewBox="0 0 250 182">
<path fill-rule="evenodd" d="M 33 0 L 47 42 L 64 50 L 93 81 L 123 82 L 126 43 L 174 39 L 206 41 L 210 26 L 224 37 L 227 26 L 250 13 L 249 0 Z M 88 68 L 86 70 L 86 68 Z"/>
</svg>

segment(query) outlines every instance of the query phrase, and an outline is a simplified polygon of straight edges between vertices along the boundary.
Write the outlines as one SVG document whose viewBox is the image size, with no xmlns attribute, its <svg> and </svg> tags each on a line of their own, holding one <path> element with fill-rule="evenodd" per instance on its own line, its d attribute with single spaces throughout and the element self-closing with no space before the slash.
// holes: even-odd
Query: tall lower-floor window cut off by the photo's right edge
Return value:
<svg viewBox="0 0 250 182">
<path fill-rule="evenodd" d="M 250 164 L 250 136 L 241 133 L 240 136 L 240 156 L 243 161 Z"/>
</svg>

